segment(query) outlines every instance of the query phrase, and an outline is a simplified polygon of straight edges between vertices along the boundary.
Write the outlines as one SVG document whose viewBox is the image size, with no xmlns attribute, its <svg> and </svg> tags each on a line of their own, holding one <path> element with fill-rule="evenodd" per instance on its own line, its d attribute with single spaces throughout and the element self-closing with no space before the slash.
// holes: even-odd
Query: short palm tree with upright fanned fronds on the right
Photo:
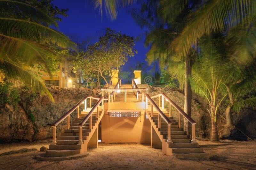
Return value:
<svg viewBox="0 0 256 170">
<path fill-rule="evenodd" d="M 244 73 L 230 60 L 223 39 L 202 37 L 199 48 L 200 53 L 192 70 L 192 89 L 209 102 L 208 112 L 212 119 L 211 141 L 218 141 L 216 122 L 219 108 L 224 99 L 232 95 L 232 91 L 235 92 L 236 82 L 238 78 L 241 80 Z M 250 98 L 232 103 L 230 107 L 237 110 L 241 107 L 255 107 L 255 103 L 256 98 Z"/>
</svg>

